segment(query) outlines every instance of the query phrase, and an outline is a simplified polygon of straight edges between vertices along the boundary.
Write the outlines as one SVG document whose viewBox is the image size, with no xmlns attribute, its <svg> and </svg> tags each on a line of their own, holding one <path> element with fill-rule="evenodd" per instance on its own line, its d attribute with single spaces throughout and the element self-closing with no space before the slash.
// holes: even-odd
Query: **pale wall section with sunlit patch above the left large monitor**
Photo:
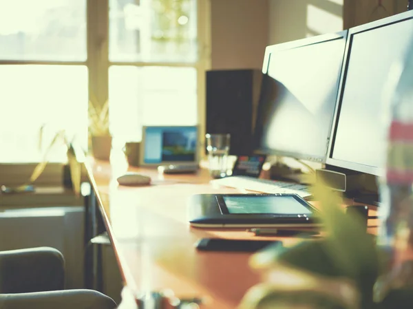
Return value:
<svg viewBox="0 0 413 309">
<path fill-rule="evenodd" d="M 344 0 L 270 0 L 269 44 L 343 30 Z"/>
</svg>

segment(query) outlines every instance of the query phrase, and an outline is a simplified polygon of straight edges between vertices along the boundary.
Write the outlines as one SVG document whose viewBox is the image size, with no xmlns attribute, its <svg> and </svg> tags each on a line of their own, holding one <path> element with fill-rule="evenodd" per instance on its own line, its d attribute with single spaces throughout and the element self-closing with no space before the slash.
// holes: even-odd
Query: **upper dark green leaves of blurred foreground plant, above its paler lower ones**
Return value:
<svg viewBox="0 0 413 309">
<path fill-rule="evenodd" d="M 339 193 L 328 189 L 322 181 L 317 182 L 312 191 L 319 204 L 319 220 L 326 237 L 306 240 L 290 248 L 269 248 L 253 255 L 251 266 L 271 268 L 282 263 L 314 274 L 346 277 L 360 290 L 362 308 L 370 308 L 379 273 L 374 237 L 366 233 L 359 217 L 344 213 Z"/>
</svg>

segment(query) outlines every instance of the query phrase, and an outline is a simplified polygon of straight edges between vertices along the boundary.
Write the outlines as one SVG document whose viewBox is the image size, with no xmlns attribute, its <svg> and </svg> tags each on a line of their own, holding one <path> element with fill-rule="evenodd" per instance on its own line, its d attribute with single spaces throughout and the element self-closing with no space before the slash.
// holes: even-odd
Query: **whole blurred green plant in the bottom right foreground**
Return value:
<svg viewBox="0 0 413 309">
<path fill-rule="evenodd" d="M 326 237 L 253 255 L 251 267 L 263 282 L 246 292 L 240 309 L 413 308 L 413 286 L 395 287 L 374 299 L 385 253 L 361 218 L 343 212 L 340 195 L 323 184 L 315 185 L 313 195 Z"/>
</svg>

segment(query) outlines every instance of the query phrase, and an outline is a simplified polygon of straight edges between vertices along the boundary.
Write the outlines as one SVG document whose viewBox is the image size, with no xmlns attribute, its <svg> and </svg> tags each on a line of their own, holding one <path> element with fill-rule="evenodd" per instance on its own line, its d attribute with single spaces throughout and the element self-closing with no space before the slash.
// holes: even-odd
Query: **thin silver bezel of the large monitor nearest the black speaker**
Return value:
<svg viewBox="0 0 413 309">
<path fill-rule="evenodd" d="M 264 61 L 263 61 L 263 64 L 262 64 L 262 73 L 265 74 L 265 75 L 268 75 L 267 73 L 268 73 L 269 60 L 270 60 L 270 56 L 273 52 L 281 52 L 283 50 L 292 50 L 292 49 L 297 48 L 297 47 L 304 47 L 304 46 L 308 46 L 308 45 L 314 45 L 314 44 L 317 44 L 317 43 L 323 43 L 323 42 L 333 41 L 333 40 L 337 40 L 337 39 L 344 39 L 346 41 L 347 36 L 348 36 L 348 30 L 342 30 L 342 31 L 339 31 L 339 32 L 334 32 L 334 33 L 320 34 L 320 35 L 317 35 L 317 36 L 310 36 L 308 38 L 299 39 L 299 40 L 296 40 L 296 41 L 290 41 L 290 42 L 286 42 L 286 43 L 279 43 L 279 44 L 275 44 L 275 45 L 269 45 L 265 49 Z M 345 50 L 343 50 L 343 57 L 344 57 L 344 51 Z M 341 61 L 341 64 L 340 64 L 340 67 L 339 67 L 339 72 L 341 72 L 342 67 L 343 67 L 343 61 Z M 338 92 L 337 92 L 337 94 L 338 94 Z M 258 106 L 260 106 L 260 104 L 261 104 L 261 100 L 262 100 L 261 96 L 262 96 L 262 93 L 260 94 L 260 100 L 259 100 Z M 330 130 L 332 128 L 332 120 L 333 119 L 334 119 L 334 114 L 333 114 L 329 129 L 328 129 L 329 130 L 329 132 L 327 134 L 328 139 L 329 139 L 330 134 L 331 134 Z M 254 152 L 255 153 L 262 153 L 262 154 L 266 154 L 266 155 L 285 156 L 285 157 L 295 158 L 295 159 L 299 159 L 299 160 L 308 160 L 308 161 L 313 161 L 313 162 L 325 163 L 327 153 L 328 153 L 328 145 L 329 145 L 329 140 L 328 139 L 326 140 L 326 146 L 327 146 L 326 147 L 326 152 L 324 153 L 323 156 L 307 155 L 307 154 L 304 154 L 304 153 L 295 153 L 295 152 L 284 151 L 284 150 L 280 150 L 280 149 L 270 149 L 270 148 L 260 147 L 260 145 L 256 145 L 254 147 L 255 148 Z"/>
</svg>

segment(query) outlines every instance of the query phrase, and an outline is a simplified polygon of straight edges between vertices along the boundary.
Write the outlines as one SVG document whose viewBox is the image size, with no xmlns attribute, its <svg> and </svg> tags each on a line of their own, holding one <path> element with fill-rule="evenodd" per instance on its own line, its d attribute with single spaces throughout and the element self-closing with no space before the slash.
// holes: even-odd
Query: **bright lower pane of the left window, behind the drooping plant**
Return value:
<svg viewBox="0 0 413 309">
<path fill-rule="evenodd" d="M 39 130 L 47 147 L 59 129 L 87 149 L 87 68 L 72 65 L 0 65 L 0 162 L 39 162 Z M 50 153 L 64 162 L 63 143 Z"/>
</svg>

